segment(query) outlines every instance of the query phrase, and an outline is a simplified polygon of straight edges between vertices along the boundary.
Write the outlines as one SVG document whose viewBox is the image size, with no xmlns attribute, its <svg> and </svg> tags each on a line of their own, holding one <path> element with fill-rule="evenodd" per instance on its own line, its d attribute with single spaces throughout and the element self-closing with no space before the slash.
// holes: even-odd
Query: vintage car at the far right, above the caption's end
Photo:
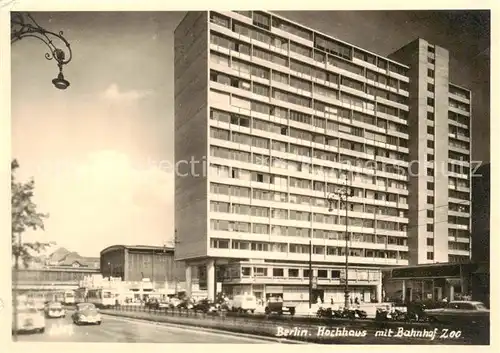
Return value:
<svg viewBox="0 0 500 353">
<path fill-rule="evenodd" d="M 485 323 L 490 319 L 490 310 L 478 301 L 451 301 L 444 308 L 425 310 L 425 314 L 429 321 L 448 323 Z"/>
</svg>

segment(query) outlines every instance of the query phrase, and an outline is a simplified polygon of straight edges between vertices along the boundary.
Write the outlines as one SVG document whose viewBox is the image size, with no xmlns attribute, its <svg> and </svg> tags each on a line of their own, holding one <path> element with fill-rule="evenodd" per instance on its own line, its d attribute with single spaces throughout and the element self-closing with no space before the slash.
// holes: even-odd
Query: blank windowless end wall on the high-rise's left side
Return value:
<svg viewBox="0 0 500 353">
<path fill-rule="evenodd" d="M 174 33 L 176 259 L 207 253 L 207 30 L 207 13 L 189 12 Z"/>
</svg>

